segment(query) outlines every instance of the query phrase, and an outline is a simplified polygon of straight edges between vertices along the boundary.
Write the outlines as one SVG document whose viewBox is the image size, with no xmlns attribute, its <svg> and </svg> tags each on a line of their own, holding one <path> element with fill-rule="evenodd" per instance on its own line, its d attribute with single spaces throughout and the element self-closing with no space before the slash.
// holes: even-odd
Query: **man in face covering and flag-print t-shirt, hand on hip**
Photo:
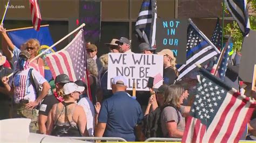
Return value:
<svg viewBox="0 0 256 143">
<path fill-rule="evenodd" d="M 14 95 L 12 118 L 30 118 L 30 132 L 36 132 L 37 110 L 35 108 L 48 94 L 51 87 L 38 71 L 28 67 L 30 58 L 28 51 L 22 51 L 19 54 L 17 69 L 10 82 L 11 86 L 8 84 L 9 77 L 7 76 L 2 78 L 2 82 L 8 95 Z M 41 92 L 37 92 L 35 85 L 42 87 Z"/>
</svg>

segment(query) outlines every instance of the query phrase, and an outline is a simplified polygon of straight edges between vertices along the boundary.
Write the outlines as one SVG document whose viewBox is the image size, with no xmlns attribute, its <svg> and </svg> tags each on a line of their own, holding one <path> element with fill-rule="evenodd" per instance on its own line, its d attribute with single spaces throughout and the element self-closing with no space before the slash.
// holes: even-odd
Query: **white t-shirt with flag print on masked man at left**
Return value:
<svg viewBox="0 0 256 143">
<path fill-rule="evenodd" d="M 36 92 L 33 85 L 29 81 L 29 69 L 19 70 L 12 82 L 14 84 L 14 101 L 19 103 L 21 99 L 29 99 L 29 101 L 36 100 Z M 37 87 L 42 87 L 44 82 L 47 82 L 45 78 L 38 73 L 35 69 L 32 70 L 33 81 Z M 39 95 L 38 95 L 39 96 Z"/>
</svg>

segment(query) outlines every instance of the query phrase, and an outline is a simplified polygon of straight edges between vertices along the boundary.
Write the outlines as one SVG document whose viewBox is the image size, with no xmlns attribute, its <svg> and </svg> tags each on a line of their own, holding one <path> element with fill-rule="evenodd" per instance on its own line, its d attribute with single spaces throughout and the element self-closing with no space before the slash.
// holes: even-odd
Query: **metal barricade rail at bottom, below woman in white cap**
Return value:
<svg viewBox="0 0 256 143">
<path fill-rule="evenodd" d="M 66 137 L 65 137 L 66 138 Z M 101 141 L 114 141 L 114 142 L 119 142 L 119 141 L 123 141 L 123 142 L 127 142 L 125 139 L 123 138 L 117 138 L 117 137 L 68 137 L 70 139 L 76 139 L 76 140 L 84 140 L 84 141 L 96 141 L 96 140 L 101 140 Z"/>
</svg>

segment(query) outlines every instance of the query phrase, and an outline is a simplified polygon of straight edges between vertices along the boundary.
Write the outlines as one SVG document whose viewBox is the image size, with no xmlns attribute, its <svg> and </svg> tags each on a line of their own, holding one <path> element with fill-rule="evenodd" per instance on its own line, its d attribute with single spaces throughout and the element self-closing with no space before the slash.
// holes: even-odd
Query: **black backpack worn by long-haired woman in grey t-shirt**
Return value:
<svg viewBox="0 0 256 143">
<path fill-rule="evenodd" d="M 173 105 L 165 105 L 163 108 L 157 108 L 153 112 L 150 112 L 148 115 L 144 116 L 143 118 L 143 133 L 146 138 L 160 138 L 164 137 L 164 134 L 161 130 L 161 112 L 166 108 L 167 106 L 172 106 L 174 109 L 176 109 L 178 114 L 178 123 L 180 123 L 180 116 L 179 116 L 179 110 L 174 107 Z"/>
</svg>

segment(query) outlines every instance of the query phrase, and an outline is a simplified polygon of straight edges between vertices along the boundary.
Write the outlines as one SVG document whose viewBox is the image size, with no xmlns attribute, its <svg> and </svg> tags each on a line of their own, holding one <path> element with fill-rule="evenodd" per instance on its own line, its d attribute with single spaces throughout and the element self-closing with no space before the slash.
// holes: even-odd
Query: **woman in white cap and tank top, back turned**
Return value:
<svg viewBox="0 0 256 143">
<path fill-rule="evenodd" d="M 77 105 L 79 95 L 84 87 L 75 83 L 66 83 L 59 95 L 64 102 L 52 106 L 48 116 L 47 134 L 58 137 L 88 136 L 86 130 L 86 115 L 82 106 Z"/>
</svg>

